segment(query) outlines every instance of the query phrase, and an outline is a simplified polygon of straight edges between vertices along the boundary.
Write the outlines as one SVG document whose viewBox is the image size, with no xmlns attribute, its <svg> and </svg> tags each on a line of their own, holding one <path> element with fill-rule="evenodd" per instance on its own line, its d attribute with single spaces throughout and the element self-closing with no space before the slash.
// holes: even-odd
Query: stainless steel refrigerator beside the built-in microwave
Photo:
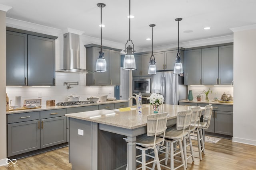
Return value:
<svg viewBox="0 0 256 170">
<path fill-rule="evenodd" d="M 178 105 L 179 100 L 187 99 L 187 86 L 184 77 L 173 74 L 173 71 L 156 72 L 152 76 L 152 93 L 164 96 L 165 104 Z"/>
</svg>

